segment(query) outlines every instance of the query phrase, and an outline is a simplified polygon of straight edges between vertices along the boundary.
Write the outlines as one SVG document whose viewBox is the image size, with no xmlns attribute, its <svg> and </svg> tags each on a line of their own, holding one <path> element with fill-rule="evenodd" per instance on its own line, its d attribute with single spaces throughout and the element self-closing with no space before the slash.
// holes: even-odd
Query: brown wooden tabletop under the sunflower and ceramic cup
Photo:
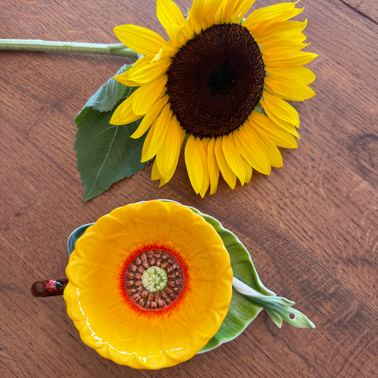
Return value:
<svg viewBox="0 0 378 378">
<path fill-rule="evenodd" d="M 257 0 L 255 6 L 273 4 Z M 181 9 L 188 0 L 178 2 Z M 284 167 L 201 199 L 180 157 L 158 188 L 151 166 L 82 204 L 74 117 L 125 62 L 119 57 L 0 52 L 0 377 L 377 377 L 378 16 L 376 0 L 302 0 L 319 57 L 316 97 L 296 104 L 298 150 Z M 113 26 L 164 35 L 155 1 L 1 1 L 0 38 L 117 43 Z M 30 284 L 64 277 L 67 236 L 135 201 L 174 199 L 218 218 L 262 282 L 296 301 L 315 330 L 264 311 L 230 343 L 160 371 L 135 371 L 79 339 L 62 297 Z"/>
</svg>

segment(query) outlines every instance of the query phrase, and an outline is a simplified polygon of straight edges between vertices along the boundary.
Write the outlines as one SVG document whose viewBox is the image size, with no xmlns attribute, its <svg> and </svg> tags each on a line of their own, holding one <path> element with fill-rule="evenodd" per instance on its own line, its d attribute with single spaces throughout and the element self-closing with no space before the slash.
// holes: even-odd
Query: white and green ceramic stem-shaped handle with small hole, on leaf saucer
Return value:
<svg viewBox="0 0 378 378">
<path fill-rule="evenodd" d="M 262 295 L 235 277 L 233 277 L 233 288 L 257 306 L 264 308 L 279 328 L 282 326 L 282 321 L 286 321 L 297 328 L 315 328 L 313 322 L 303 313 L 291 308 L 295 302 L 289 301 L 289 299 L 282 296 Z"/>
</svg>

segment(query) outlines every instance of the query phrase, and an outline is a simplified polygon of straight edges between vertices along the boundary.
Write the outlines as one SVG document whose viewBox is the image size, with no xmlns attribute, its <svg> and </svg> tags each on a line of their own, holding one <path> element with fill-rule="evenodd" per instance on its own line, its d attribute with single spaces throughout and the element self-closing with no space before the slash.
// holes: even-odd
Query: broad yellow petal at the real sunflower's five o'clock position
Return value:
<svg viewBox="0 0 378 378">
<path fill-rule="evenodd" d="M 244 126 L 235 131 L 235 147 L 252 168 L 263 174 L 270 174 L 269 158 L 254 135 L 248 133 L 248 128 L 250 128 L 249 124 L 245 123 Z"/>
</svg>

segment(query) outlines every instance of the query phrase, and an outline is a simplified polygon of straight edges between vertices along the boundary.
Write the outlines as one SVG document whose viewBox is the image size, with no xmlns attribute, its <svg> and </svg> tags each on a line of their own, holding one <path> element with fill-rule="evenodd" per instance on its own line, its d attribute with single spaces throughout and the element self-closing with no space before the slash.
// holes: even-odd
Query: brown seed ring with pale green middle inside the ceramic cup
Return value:
<svg viewBox="0 0 378 378">
<path fill-rule="evenodd" d="M 182 267 L 168 252 L 143 252 L 128 265 L 125 286 L 128 296 L 138 307 L 146 310 L 167 308 L 184 288 Z"/>
</svg>

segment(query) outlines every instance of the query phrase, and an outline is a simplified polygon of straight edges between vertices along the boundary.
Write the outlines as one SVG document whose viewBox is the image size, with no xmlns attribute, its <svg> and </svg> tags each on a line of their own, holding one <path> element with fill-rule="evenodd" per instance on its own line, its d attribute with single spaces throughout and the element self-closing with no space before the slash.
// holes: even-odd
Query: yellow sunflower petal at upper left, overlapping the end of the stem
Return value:
<svg viewBox="0 0 378 378">
<path fill-rule="evenodd" d="M 142 55 L 157 54 L 165 44 L 164 38 L 155 31 L 136 25 L 121 25 L 113 28 L 123 45 Z"/>
</svg>

